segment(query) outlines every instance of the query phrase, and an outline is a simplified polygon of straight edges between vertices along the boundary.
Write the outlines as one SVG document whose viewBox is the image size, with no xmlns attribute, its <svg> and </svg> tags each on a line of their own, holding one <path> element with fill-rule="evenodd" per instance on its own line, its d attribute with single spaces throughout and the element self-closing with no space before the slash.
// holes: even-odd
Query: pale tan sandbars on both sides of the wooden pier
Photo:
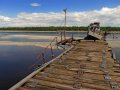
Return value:
<svg viewBox="0 0 120 90">
<path fill-rule="evenodd" d="M 0 37 L 1 39 L 9 39 L 9 38 L 27 38 L 27 39 L 47 39 L 49 42 L 12 42 L 12 41 L 0 41 L 0 45 L 17 45 L 17 46 L 24 46 L 24 45 L 31 45 L 31 46 L 40 46 L 40 47 L 46 47 L 50 44 L 50 42 L 55 38 L 56 36 L 39 36 L 39 35 L 5 35 Z M 67 37 L 69 38 L 69 37 Z M 79 37 L 80 38 L 80 37 Z M 60 36 L 57 36 L 58 41 L 60 41 Z M 110 47 L 120 47 L 120 42 L 116 41 L 107 41 Z"/>
</svg>

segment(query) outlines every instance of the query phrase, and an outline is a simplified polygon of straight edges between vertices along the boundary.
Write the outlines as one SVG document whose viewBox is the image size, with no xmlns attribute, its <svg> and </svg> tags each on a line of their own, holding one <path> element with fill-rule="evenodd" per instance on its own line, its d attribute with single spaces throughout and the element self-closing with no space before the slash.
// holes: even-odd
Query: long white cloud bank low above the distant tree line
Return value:
<svg viewBox="0 0 120 90">
<path fill-rule="evenodd" d="M 61 26 L 64 25 L 64 12 L 19 13 L 15 18 L 0 16 L 4 25 L 0 26 Z M 68 26 L 87 26 L 100 22 L 102 26 L 120 26 L 120 6 L 103 7 L 100 10 L 68 12 Z"/>
</svg>

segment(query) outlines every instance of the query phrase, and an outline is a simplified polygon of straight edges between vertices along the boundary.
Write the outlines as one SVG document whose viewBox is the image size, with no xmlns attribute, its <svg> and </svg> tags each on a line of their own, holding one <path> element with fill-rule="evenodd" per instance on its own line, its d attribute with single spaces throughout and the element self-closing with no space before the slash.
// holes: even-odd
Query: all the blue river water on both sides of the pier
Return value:
<svg viewBox="0 0 120 90">
<path fill-rule="evenodd" d="M 84 38 L 86 32 L 68 32 L 67 36 Z M 56 32 L 1 32 L 0 37 L 8 35 L 35 35 L 35 36 L 56 36 Z M 119 35 L 117 36 L 119 41 Z M 108 35 L 107 39 L 112 40 L 112 35 Z M 30 39 L 30 38 L 0 38 L 0 41 L 12 42 L 49 42 L 48 39 Z M 18 81 L 26 77 L 34 71 L 38 64 L 43 64 L 42 59 L 38 59 L 38 55 L 44 51 L 43 47 L 36 46 L 15 46 L 0 45 L 0 90 L 7 90 Z M 58 56 L 64 50 L 55 49 L 53 52 Z M 113 48 L 117 59 L 120 60 L 120 48 Z M 46 61 L 50 61 L 50 49 L 46 50 Z"/>
</svg>

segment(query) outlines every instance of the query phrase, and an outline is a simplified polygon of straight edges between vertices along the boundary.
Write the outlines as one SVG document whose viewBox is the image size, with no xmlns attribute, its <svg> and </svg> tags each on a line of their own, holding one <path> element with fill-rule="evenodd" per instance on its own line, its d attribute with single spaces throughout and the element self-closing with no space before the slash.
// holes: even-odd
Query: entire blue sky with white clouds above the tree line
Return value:
<svg viewBox="0 0 120 90">
<path fill-rule="evenodd" d="M 120 0 L 0 0 L 0 27 L 120 26 Z"/>
</svg>

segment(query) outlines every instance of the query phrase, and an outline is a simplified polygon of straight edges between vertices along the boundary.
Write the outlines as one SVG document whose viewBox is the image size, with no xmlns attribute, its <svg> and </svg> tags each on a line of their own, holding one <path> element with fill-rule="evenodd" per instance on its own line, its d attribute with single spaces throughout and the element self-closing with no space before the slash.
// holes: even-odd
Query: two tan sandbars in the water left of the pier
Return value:
<svg viewBox="0 0 120 90">
<path fill-rule="evenodd" d="M 38 47 L 47 47 L 55 36 L 39 36 L 39 35 L 6 35 L 0 37 L 1 39 L 10 39 L 10 38 L 27 38 L 27 39 L 48 39 L 48 42 L 18 42 L 18 41 L 0 41 L 0 45 L 15 45 L 15 46 L 38 46 Z M 59 37 L 58 37 L 59 40 Z M 55 41 L 52 43 L 55 45 Z M 54 48 L 54 47 L 53 47 Z"/>
</svg>

